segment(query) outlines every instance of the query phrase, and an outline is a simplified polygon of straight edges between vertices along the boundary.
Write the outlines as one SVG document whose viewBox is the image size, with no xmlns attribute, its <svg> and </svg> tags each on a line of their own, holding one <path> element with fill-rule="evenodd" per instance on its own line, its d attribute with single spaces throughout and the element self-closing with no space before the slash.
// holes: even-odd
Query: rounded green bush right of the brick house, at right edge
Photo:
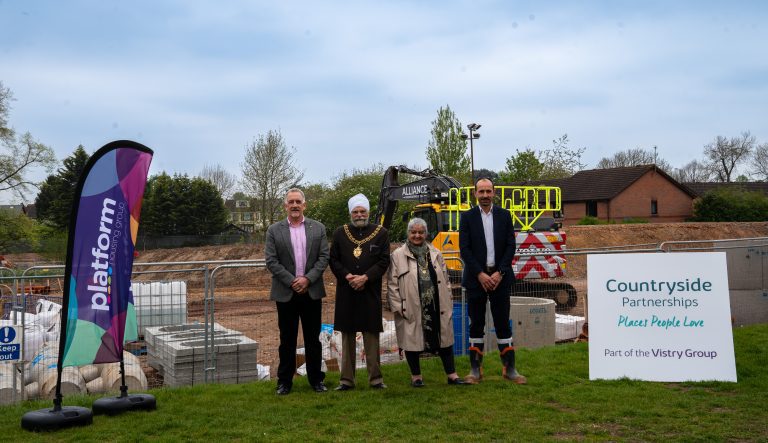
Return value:
<svg viewBox="0 0 768 443">
<path fill-rule="evenodd" d="M 768 196 L 761 192 L 720 188 L 693 204 L 691 221 L 748 222 L 768 220 Z"/>
</svg>

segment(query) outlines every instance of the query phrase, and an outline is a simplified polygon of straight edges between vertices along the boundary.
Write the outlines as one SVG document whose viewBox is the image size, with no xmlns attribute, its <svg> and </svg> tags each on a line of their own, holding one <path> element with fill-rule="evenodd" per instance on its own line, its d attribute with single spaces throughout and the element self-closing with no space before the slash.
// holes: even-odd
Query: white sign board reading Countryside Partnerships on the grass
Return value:
<svg viewBox="0 0 768 443">
<path fill-rule="evenodd" d="M 589 378 L 736 381 L 724 252 L 587 257 Z"/>
</svg>

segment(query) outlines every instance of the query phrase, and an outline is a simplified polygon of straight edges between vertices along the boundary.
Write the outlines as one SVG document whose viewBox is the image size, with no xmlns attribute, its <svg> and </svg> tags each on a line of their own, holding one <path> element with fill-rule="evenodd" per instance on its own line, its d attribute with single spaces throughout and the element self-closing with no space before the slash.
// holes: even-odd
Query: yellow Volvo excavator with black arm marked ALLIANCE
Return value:
<svg viewBox="0 0 768 443">
<path fill-rule="evenodd" d="M 416 177 L 400 184 L 400 175 Z M 459 220 L 463 211 L 474 204 L 474 187 L 431 169 L 417 171 L 407 166 L 390 166 L 384 173 L 379 204 L 374 221 L 389 228 L 398 202 L 414 202 L 408 214 L 427 222 L 428 238 L 446 258 L 459 258 Z M 560 188 L 552 186 L 495 186 L 498 202 L 512 214 L 517 253 L 512 260 L 515 293 L 521 296 L 544 296 L 560 307 L 576 305 L 577 294 L 572 285 L 546 281 L 565 275 L 565 232 L 554 214 L 561 210 Z M 497 203 L 499 204 L 499 203 Z M 536 252 L 547 255 L 534 255 Z M 449 273 L 458 278 L 459 260 L 446 260 Z"/>
</svg>

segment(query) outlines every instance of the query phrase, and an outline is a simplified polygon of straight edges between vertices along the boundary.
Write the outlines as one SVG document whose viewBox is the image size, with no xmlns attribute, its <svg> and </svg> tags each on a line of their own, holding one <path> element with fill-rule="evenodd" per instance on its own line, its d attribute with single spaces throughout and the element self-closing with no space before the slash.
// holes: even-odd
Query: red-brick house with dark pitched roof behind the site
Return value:
<svg viewBox="0 0 768 443">
<path fill-rule="evenodd" d="M 526 184 L 560 187 L 564 226 L 586 216 L 617 223 L 626 219 L 682 222 L 692 215 L 697 197 L 656 165 L 590 169 L 565 179 Z"/>
</svg>

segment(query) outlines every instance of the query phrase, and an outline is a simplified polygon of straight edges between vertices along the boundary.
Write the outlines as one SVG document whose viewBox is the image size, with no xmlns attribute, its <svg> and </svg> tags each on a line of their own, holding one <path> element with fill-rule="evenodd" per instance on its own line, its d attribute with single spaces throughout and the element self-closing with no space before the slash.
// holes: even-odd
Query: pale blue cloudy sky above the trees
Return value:
<svg viewBox="0 0 768 443">
<path fill-rule="evenodd" d="M 151 173 L 239 175 L 279 129 L 311 182 L 426 167 L 445 105 L 483 125 L 475 166 L 493 170 L 566 133 L 588 167 L 768 142 L 766 42 L 763 1 L 0 0 L 10 124 L 59 159 L 131 139 Z"/>
</svg>

